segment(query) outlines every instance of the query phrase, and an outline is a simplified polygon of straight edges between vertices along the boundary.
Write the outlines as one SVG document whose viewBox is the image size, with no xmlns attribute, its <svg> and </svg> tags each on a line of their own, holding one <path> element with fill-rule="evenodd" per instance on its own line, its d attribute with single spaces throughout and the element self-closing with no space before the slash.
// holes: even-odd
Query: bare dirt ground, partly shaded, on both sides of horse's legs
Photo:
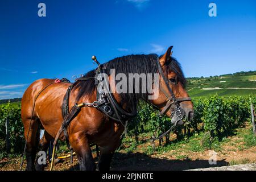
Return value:
<svg viewBox="0 0 256 182">
<path fill-rule="evenodd" d="M 200 154 L 193 154 L 193 156 L 190 156 L 190 159 L 180 160 L 166 154 L 154 154 L 148 156 L 139 152 L 134 154 L 123 154 L 121 152 L 116 152 L 110 170 L 187 170 L 228 166 L 228 164 L 232 161 L 236 161 L 237 163 L 254 163 L 256 162 L 255 151 L 256 147 L 252 147 L 243 151 L 226 151 L 224 153 L 221 152 L 217 155 L 216 165 L 209 164 L 209 151 L 205 151 Z M 94 159 L 97 163 L 95 155 Z M 1 171 L 19 170 L 19 166 L 20 158 L 12 160 L 3 159 L 0 162 Z M 26 166 L 26 162 L 24 163 L 24 166 Z M 49 167 L 46 168 L 46 170 L 48 169 Z M 53 170 L 79 170 L 77 158 L 74 157 L 73 165 L 69 163 L 69 159 L 61 160 L 60 162 L 55 163 Z"/>
</svg>

